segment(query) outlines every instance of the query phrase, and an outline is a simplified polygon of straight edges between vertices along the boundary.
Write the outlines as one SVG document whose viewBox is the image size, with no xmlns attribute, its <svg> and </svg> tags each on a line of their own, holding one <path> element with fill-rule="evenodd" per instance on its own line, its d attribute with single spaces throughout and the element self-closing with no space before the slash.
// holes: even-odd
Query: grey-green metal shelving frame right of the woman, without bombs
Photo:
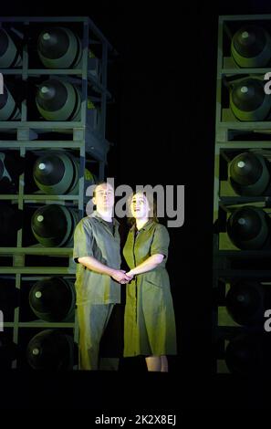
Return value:
<svg viewBox="0 0 271 429">
<path fill-rule="evenodd" d="M 235 207 L 245 204 L 261 206 L 265 210 L 270 210 L 271 196 L 241 196 L 230 192 L 226 179 L 226 162 L 231 159 L 232 153 L 253 151 L 270 156 L 271 151 L 271 120 L 262 121 L 240 121 L 235 120 L 233 113 L 229 110 L 227 99 L 224 99 L 224 78 L 241 75 L 258 75 L 264 77 L 270 72 L 268 67 L 240 68 L 231 58 L 230 47 L 233 32 L 241 27 L 244 22 L 257 21 L 270 24 L 271 15 L 243 15 L 243 16 L 220 16 L 218 20 L 218 46 L 217 46 L 217 75 L 216 75 L 216 115 L 215 115 L 215 144 L 214 144 L 214 222 L 219 225 L 220 215 L 224 211 L 230 212 Z M 246 136 L 247 134 L 247 136 Z M 256 139 L 256 135 L 259 139 Z M 270 134 L 268 140 L 263 140 Z M 239 137 L 240 136 L 240 137 Z M 244 138 L 244 141 L 243 141 Z M 251 140 L 250 140 L 251 139 Z M 268 152 L 269 150 L 269 152 Z M 266 151 L 266 152 L 265 152 Z M 229 155 L 228 155 L 229 154 Z M 227 156 L 228 155 L 228 156 Z M 224 164 L 223 164 L 224 162 Z M 221 194 L 223 193 L 223 194 Z M 224 195 L 225 194 L 225 195 Z M 221 210 L 223 209 L 223 210 Z M 223 213 L 223 215 L 225 215 Z M 224 219 L 224 217 L 222 218 Z M 217 224 L 216 224 L 217 222 Z M 214 293 L 219 289 L 219 282 L 227 282 L 233 279 L 271 279 L 271 248 L 261 250 L 220 250 L 220 236 L 225 235 L 225 231 L 218 232 L 214 228 L 213 246 L 213 288 Z M 234 245 L 233 245 L 234 246 Z M 235 246 L 234 246 L 235 247 Z M 270 266 L 268 261 L 270 260 Z M 247 264 L 247 265 L 246 265 Z M 250 268 L 250 269 L 249 269 Z M 244 331 L 244 327 L 219 326 L 218 309 L 221 304 L 214 299 L 213 306 L 213 338 L 214 342 L 234 337 Z M 221 361 L 221 357 L 214 356 L 214 360 Z M 219 365 L 218 365 L 219 366 Z M 225 366 L 225 363 L 224 363 Z M 215 370 L 216 371 L 216 368 Z"/>
</svg>

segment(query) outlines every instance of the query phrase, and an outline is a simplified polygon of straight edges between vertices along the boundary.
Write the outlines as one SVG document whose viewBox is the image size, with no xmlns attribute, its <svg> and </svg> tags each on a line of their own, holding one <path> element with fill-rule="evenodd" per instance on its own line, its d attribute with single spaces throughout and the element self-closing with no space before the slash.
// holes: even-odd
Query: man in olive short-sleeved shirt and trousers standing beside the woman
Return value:
<svg viewBox="0 0 271 429">
<path fill-rule="evenodd" d="M 74 234 L 80 370 L 100 369 L 100 339 L 114 304 L 120 303 L 120 283 L 130 280 L 120 270 L 120 224 L 112 218 L 112 186 L 96 185 L 92 201 L 96 211 L 80 220 Z"/>
</svg>

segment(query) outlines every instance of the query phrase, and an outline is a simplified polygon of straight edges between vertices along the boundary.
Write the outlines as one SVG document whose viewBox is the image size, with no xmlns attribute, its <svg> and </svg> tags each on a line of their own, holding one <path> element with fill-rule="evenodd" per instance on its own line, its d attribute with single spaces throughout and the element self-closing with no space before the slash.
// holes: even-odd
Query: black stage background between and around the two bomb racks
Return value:
<svg viewBox="0 0 271 429">
<path fill-rule="evenodd" d="M 222 384 L 212 376 L 211 359 L 217 22 L 219 15 L 271 13 L 268 3 L 78 0 L 64 5 L 13 0 L 1 4 L 2 16 L 89 16 L 119 53 L 109 71 L 109 89 L 115 98 L 107 120 L 108 139 L 115 143 L 109 152 L 109 177 L 114 176 L 116 184 L 185 185 L 184 225 L 170 229 L 168 270 L 179 346 L 172 372 L 149 378 L 132 371 L 104 377 L 39 375 L 41 391 L 55 394 L 63 406 L 65 402 L 72 406 L 69 389 L 75 407 L 133 409 L 144 403 L 146 411 L 151 407 L 177 411 L 182 406 L 218 406 L 216 392 Z M 15 374 L 6 375 L 6 392 L 14 384 L 25 392 L 26 375 L 20 377 L 18 382 Z M 32 383 L 27 378 L 27 394 L 36 404 Z M 138 388 L 140 395 L 135 393 Z M 19 406 L 26 406 L 27 394 Z M 50 403 L 53 407 L 54 401 Z"/>
</svg>

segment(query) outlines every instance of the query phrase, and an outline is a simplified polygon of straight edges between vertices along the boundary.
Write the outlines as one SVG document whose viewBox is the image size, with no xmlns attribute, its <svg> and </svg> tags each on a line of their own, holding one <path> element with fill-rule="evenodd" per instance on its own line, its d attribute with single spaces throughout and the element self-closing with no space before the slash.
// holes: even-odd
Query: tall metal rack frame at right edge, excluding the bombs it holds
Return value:
<svg viewBox="0 0 271 429">
<path fill-rule="evenodd" d="M 232 313 L 226 305 L 227 293 L 235 288 L 235 284 L 238 282 L 255 281 L 259 288 L 265 290 L 269 290 L 271 287 L 270 243 L 269 246 L 263 248 L 242 249 L 235 246 L 233 240 L 229 238 L 227 229 L 227 222 L 231 214 L 242 207 L 258 207 L 266 213 L 268 218 L 271 215 L 270 183 L 269 190 L 265 193 L 239 194 L 231 185 L 229 176 L 230 163 L 236 156 L 244 152 L 263 156 L 268 165 L 271 160 L 270 113 L 266 115 L 265 119 L 250 118 L 247 120 L 245 117 L 236 117 L 235 111 L 231 109 L 230 105 L 230 87 L 233 82 L 236 83 L 238 79 L 243 78 L 259 78 L 264 81 L 266 73 L 271 70 L 270 60 L 265 66 L 256 65 L 253 62 L 240 66 L 238 58 L 234 58 L 233 37 L 241 28 L 243 28 L 241 37 L 244 39 L 248 37 L 245 29 L 247 26 L 248 28 L 250 28 L 249 26 L 261 26 L 270 35 L 271 16 L 219 17 L 214 146 L 213 368 L 214 372 L 226 373 L 235 371 L 235 364 L 230 368 L 226 361 L 226 350 L 231 341 L 235 342 L 240 335 L 255 335 L 255 338 L 259 338 L 263 333 L 261 329 L 264 330 L 264 326 L 261 329 L 249 326 L 249 324 L 245 326 L 233 319 Z M 270 45 L 266 43 L 269 58 L 271 58 L 270 49 Z M 245 92 L 245 90 L 244 84 L 241 91 Z M 267 99 L 270 96 L 265 97 L 266 102 L 270 103 Z M 243 298 L 244 296 L 241 294 L 240 302 Z M 247 368 L 244 371 L 250 371 Z"/>
</svg>

